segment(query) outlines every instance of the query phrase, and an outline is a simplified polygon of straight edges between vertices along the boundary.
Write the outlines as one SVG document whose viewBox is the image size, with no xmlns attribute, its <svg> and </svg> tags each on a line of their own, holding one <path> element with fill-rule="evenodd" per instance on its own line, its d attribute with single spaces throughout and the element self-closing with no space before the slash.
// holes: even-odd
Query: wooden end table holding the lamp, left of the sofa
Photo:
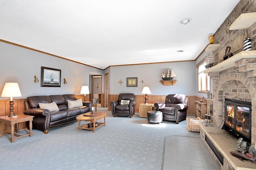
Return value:
<svg viewBox="0 0 256 170">
<path fill-rule="evenodd" d="M 15 139 L 18 139 L 18 138 L 21 138 L 24 136 L 28 136 L 28 135 L 29 135 L 29 137 L 33 136 L 33 132 L 32 132 L 33 117 L 34 116 L 29 116 L 29 115 L 18 115 L 18 117 L 1 116 L 0 117 L 0 138 L 2 137 L 2 134 L 10 133 L 11 134 L 10 140 L 13 143 L 15 141 Z M 26 122 L 26 121 L 29 121 L 29 133 L 24 134 L 24 135 L 15 134 L 14 133 L 14 125 L 16 124 L 16 133 L 18 133 L 18 132 L 20 132 L 19 123 Z M 2 133 L 2 130 L 1 130 L 2 122 L 9 124 L 11 129 Z M 14 137 L 14 135 L 17 137 Z"/>
</svg>

